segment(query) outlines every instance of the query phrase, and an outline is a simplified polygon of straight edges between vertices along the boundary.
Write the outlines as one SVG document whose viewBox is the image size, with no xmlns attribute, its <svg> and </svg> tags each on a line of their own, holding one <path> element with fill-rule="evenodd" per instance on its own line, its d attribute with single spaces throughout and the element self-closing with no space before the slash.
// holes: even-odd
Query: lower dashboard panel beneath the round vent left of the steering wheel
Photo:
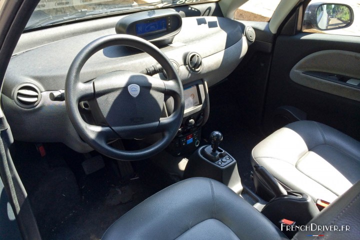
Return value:
<svg viewBox="0 0 360 240">
<path fill-rule="evenodd" d="M 63 142 L 77 152 L 92 148 L 80 139 L 67 115 L 64 101 L 51 101 L 50 91 L 42 92 L 40 103 L 32 109 L 24 109 L 1 94 L 3 111 L 16 140 L 38 142 Z"/>
</svg>

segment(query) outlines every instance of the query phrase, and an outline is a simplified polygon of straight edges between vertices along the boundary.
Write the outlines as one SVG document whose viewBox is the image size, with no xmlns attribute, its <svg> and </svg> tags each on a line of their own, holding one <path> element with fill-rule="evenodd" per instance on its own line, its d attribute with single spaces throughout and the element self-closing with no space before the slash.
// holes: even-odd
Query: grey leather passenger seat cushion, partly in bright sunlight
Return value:
<svg viewBox="0 0 360 240">
<path fill-rule="evenodd" d="M 360 142 L 319 122 L 296 121 L 257 144 L 251 162 L 285 187 L 331 202 L 360 179 Z"/>
</svg>

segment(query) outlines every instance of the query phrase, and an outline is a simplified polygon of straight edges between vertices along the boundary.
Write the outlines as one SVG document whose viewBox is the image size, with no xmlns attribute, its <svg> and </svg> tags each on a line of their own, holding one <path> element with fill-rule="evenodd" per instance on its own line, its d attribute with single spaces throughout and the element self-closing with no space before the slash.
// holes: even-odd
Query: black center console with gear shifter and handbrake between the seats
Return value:
<svg viewBox="0 0 360 240">
<path fill-rule="evenodd" d="M 296 231 L 286 230 L 283 225 L 305 225 L 318 214 L 319 210 L 311 197 L 303 192 L 286 191 L 263 166 L 254 166 L 254 179 L 256 176 L 257 180 L 266 185 L 273 195 L 271 199 L 265 201 L 242 186 L 236 160 L 219 147 L 222 138 L 219 131 L 211 132 L 211 145 L 199 147 L 189 157 L 183 173 L 184 178 L 201 176 L 222 182 L 264 214 L 289 238 Z"/>
</svg>

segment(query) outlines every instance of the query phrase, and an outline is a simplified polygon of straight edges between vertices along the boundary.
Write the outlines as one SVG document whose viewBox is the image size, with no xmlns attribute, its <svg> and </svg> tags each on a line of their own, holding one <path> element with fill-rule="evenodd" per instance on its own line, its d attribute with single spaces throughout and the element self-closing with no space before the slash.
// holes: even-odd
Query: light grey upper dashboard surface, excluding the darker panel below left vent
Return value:
<svg viewBox="0 0 360 240">
<path fill-rule="evenodd" d="M 190 51 L 196 51 L 205 58 L 228 48 L 242 38 L 242 25 L 236 21 L 222 17 L 201 18 L 217 26 L 198 25 L 198 17 L 183 18 L 181 31 L 175 36 L 173 44 L 161 47 L 161 50 L 180 66 L 184 65 L 185 57 Z M 5 80 L 11 80 L 5 81 L 3 93 L 11 97 L 14 86 L 24 81 L 37 84 L 42 91 L 64 89 L 66 73 L 75 55 L 90 41 L 109 34 L 115 34 L 114 27 L 51 42 L 13 56 L 5 76 Z M 86 62 L 81 78 L 86 81 L 114 70 L 139 72 L 155 63 L 146 53 L 134 52 L 124 46 L 111 46 L 95 53 Z M 202 70 L 202 73 L 204 72 L 206 68 Z"/>
</svg>

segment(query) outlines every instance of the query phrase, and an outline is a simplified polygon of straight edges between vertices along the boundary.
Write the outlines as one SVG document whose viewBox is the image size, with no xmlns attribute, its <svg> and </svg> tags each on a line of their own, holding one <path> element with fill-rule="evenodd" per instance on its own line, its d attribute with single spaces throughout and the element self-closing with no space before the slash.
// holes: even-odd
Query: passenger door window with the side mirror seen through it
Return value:
<svg viewBox="0 0 360 240">
<path fill-rule="evenodd" d="M 301 29 L 304 32 L 360 36 L 360 0 L 343 3 L 311 0 Z"/>
</svg>

